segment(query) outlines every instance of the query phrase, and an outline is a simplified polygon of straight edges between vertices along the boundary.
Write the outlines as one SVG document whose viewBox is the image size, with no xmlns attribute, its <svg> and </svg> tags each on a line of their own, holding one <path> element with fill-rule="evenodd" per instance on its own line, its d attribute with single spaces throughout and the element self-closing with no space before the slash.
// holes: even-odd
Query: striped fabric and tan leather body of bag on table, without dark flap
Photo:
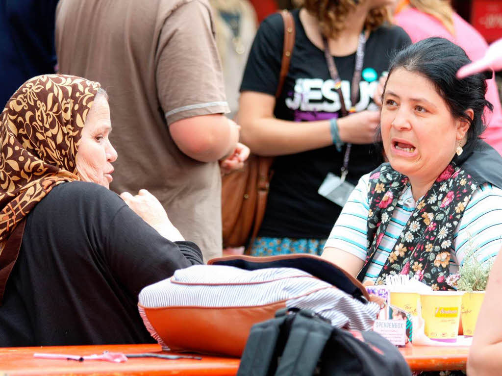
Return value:
<svg viewBox="0 0 502 376">
<path fill-rule="evenodd" d="M 295 268 L 196 265 L 142 290 L 139 309 L 164 347 L 240 356 L 251 326 L 277 309 L 311 309 L 338 327 L 367 330 L 380 307 Z"/>
</svg>

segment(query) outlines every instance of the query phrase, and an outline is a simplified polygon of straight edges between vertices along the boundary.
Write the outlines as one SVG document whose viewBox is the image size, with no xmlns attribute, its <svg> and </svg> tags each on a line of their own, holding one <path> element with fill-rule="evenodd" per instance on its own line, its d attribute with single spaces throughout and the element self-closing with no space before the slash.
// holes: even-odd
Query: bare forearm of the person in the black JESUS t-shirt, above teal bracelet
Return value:
<svg viewBox="0 0 502 376">
<path fill-rule="evenodd" d="M 287 121 L 273 117 L 241 123 L 240 140 L 255 154 L 278 156 L 332 145 L 329 121 Z"/>
</svg>

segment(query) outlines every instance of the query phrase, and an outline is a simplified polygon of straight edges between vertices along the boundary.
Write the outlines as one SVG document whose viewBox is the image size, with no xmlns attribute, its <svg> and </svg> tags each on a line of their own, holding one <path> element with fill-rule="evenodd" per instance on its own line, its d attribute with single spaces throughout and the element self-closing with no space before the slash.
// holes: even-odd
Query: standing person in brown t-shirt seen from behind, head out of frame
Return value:
<svg viewBox="0 0 502 376">
<path fill-rule="evenodd" d="M 222 169 L 249 150 L 228 112 L 207 0 L 61 0 L 61 73 L 101 83 L 120 158 L 111 189 L 148 189 L 173 224 L 221 255 Z"/>
</svg>

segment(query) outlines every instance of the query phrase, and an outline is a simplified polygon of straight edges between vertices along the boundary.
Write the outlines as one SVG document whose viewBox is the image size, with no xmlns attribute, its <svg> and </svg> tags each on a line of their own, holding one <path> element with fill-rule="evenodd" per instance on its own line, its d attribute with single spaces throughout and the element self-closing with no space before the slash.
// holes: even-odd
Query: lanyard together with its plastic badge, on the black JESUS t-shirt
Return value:
<svg viewBox="0 0 502 376">
<path fill-rule="evenodd" d="M 326 38 L 323 38 L 324 41 L 324 56 L 326 57 L 326 62 L 329 68 L 329 74 L 334 81 L 335 89 L 340 98 L 340 111 L 342 112 L 342 116 L 345 117 L 350 113 L 355 112 L 355 103 L 357 102 L 357 95 L 359 93 L 359 82 L 361 80 L 361 71 L 362 64 L 364 60 L 364 45 L 366 43 L 366 37 L 364 36 L 364 30 L 359 35 L 359 41 L 357 44 L 357 53 L 355 58 L 355 69 L 354 76 L 352 77 L 352 87 L 351 87 L 351 105 L 350 111 L 347 111 L 345 108 L 345 101 L 343 99 L 343 94 L 341 91 L 341 80 L 338 75 L 338 71 L 336 69 L 335 61 L 333 56 L 331 56 L 328 47 L 328 41 Z M 348 162 L 350 159 L 350 149 L 352 145 L 347 144 L 345 147 L 345 154 L 343 157 L 343 166 L 340 171 L 340 176 L 336 176 L 332 172 L 328 172 L 326 178 L 322 182 L 321 186 L 318 189 L 318 193 L 327 198 L 330 201 L 333 201 L 335 204 L 343 207 L 350 196 L 350 193 L 354 190 L 355 186 L 345 180 L 348 174 Z"/>
</svg>

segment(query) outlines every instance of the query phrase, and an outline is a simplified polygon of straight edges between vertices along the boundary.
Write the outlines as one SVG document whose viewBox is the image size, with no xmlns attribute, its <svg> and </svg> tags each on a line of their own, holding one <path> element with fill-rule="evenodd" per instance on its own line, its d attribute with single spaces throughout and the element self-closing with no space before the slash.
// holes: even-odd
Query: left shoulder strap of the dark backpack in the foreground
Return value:
<svg viewBox="0 0 502 376">
<path fill-rule="evenodd" d="M 281 310 L 282 311 L 282 310 Z M 287 315 L 278 311 L 276 318 L 253 325 L 240 357 L 237 376 L 266 376 L 276 354 L 276 346 Z"/>
</svg>

